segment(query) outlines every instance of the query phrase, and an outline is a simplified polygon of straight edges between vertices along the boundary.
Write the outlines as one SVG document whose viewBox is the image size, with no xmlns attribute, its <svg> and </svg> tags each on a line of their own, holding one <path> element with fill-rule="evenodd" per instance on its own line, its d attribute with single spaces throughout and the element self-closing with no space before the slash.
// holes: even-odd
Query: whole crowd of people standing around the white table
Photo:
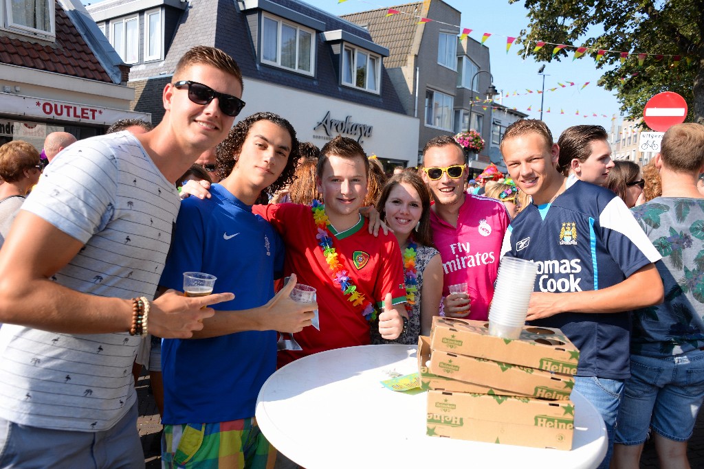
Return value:
<svg viewBox="0 0 704 469">
<path fill-rule="evenodd" d="M 580 350 L 574 389 L 608 432 L 600 467 L 637 468 L 648 435 L 662 467 L 688 467 L 704 399 L 704 127 L 672 127 L 642 172 L 611 159 L 602 127 L 555 143 L 520 120 L 501 141 L 505 175 L 469 181 L 450 136 L 386 174 L 354 139 L 299 142 L 273 113 L 236 123 L 243 88 L 230 56 L 198 46 L 156 127 L 51 134 L 44 172 L 30 144 L 0 147 L 1 468 L 143 467 L 143 366 L 164 467 L 295 467 L 254 418 L 277 367 L 415 345 L 434 316 L 486 321 L 503 256 L 539 265 L 527 321 Z M 184 296 L 187 271 L 217 276 L 213 294 Z M 317 300 L 291 299 L 300 284 Z"/>
</svg>

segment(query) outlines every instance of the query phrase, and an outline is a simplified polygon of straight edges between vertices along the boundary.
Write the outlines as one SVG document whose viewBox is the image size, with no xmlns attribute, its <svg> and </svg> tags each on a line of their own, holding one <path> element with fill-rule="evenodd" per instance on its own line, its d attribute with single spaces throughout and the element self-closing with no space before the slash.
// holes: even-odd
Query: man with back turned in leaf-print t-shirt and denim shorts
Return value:
<svg viewBox="0 0 704 469">
<path fill-rule="evenodd" d="M 633 212 L 662 255 L 655 266 L 665 302 L 633 311 L 631 377 L 612 461 L 637 467 L 650 428 L 660 461 L 689 468 L 687 440 L 704 401 L 704 196 L 696 187 L 704 170 L 704 126 L 670 127 L 653 163 L 662 196 Z"/>
</svg>

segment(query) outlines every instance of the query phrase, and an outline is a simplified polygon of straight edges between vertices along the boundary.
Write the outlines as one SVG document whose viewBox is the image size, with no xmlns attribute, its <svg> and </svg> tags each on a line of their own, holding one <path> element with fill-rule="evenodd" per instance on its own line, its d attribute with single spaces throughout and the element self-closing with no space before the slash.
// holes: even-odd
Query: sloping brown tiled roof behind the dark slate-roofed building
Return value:
<svg viewBox="0 0 704 469">
<path fill-rule="evenodd" d="M 401 11 L 401 13 L 387 18 L 386 13 L 389 8 Z M 377 44 L 382 44 L 386 49 L 389 49 L 391 55 L 384 60 L 386 68 L 405 67 L 408 57 L 413 55 L 413 42 L 418 30 L 417 17 L 422 16 L 423 4 L 417 2 L 389 6 L 389 8 L 350 13 L 342 15 L 340 18 L 357 25 L 366 25 Z"/>
</svg>

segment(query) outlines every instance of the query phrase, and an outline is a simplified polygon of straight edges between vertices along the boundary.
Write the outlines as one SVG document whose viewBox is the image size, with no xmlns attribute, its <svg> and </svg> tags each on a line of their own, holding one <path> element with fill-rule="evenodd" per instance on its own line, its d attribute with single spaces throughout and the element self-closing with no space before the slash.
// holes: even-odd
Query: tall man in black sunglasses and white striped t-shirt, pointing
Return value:
<svg viewBox="0 0 704 469">
<path fill-rule="evenodd" d="M 27 198 L 0 250 L 0 467 L 144 467 L 132 334 L 189 338 L 208 304 L 232 300 L 153 295 L 174 182 L 227 136 L 241 93 L 230 56 L 194 47 L 165 86 L 161 124 L 74 143 Z M 139 331 L 134 311 L 147 308 Z"/>
</svg>

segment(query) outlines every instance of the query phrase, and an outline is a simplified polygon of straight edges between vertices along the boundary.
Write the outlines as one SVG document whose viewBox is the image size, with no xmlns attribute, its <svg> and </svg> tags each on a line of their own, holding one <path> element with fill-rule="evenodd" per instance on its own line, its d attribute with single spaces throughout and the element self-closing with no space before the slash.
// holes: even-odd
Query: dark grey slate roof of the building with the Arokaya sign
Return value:
<svg viewBox="0 0 704 469">
<path fill-rule="evenodd" d="M 319 10 L 298 0 L 272 0 L 276 4 L 289 8 L 310 18 L 325 23 L 326 31 L 342 30 L 368 41 L 373 41 L 367 30 L 353 25 L 337 16 Z M 329 98 L 351 101 L 360 105 L 381 108 L 396 113 L 405 114 L 401 101 L 391 79 L 382 68 L 382 93 L 380 95 L 351 89 L 339 84 L 339 77 L 333 62 L 330 45 L 322 34 L 316 34 L 315 77 L 300 75 L 296 72 L 260 65 L 257 62 L 256 50 L 247 23 L 249 12 L 238 11 L 232 0 L 198 0 L 189 5 L 182 13 L 177 32 L 163 63 L 146 63 L 135 66 L 130 71 L 130 79 L 146 79 L 155 77 L 160 72 L 172 73 L 179 58 L 192 46 L 215 46 L 229 53 L 241 68 L 246 78 L 258 79 L 263 82 L 300 89 L 310 93 L 320 94 Z M 378 43 L 377 43 L 378 44 Z M 384 59 L 384 65 L 386 59 Z"/>
</svg>

